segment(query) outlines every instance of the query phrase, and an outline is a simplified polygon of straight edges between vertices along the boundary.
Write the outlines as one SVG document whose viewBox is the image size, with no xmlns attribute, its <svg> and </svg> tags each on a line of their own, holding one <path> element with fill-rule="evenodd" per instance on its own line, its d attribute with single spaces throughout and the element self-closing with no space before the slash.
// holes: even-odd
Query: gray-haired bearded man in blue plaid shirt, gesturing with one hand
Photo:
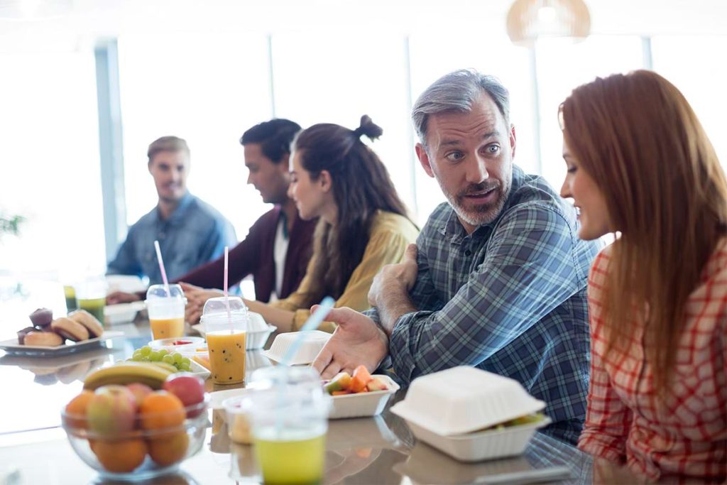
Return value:
<svg viewBox="0 0 727 485">
<path fill-rule="evenodd" d="M 417 156 L 449 202 L 398 265 L 381 270 L 366 313 L 332 310 L 339 326 L 313 364 L 323 377 L 358 364 L 404 384 L 453 366 L 518 380 L 545 401 L 545 433 L 577 442 L 585 419 L 586 283 L 599 244 L 577 236 L 574 208 L 513 165 L 507 89 L 455 71 L 417 100 Z"/>
</svg>

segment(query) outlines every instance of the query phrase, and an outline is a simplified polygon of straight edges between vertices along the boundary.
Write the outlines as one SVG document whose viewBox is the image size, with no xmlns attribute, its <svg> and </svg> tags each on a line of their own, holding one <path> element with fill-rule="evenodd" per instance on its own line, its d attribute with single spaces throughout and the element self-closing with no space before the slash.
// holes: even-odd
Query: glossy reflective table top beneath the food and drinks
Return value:
<svg viewBox="0 0 727 485">
<path fill-rule="evenodd" d="M 0 337 L 9 338 L 17 330 L 9 332 L 7 321 L 0 323 Z M 92 350 L 58 357 L 0 356 L 0 485 L 106 483 L 73 452 L 61 427 L 60 410 L 81 391 L 87 372 L 131 356 L 150 340 L 143 312 L 111 330 L 119 332 L 119 337 Z M 248 351 L 246 362 L 248 376 L 255 369 L 273 365 L 260 350 Z M 228 388 L 206 381 L 212 396 Z M 398 390 L 377 417 L 329 421 L 324 483 L 502 484 L 549 481 L 549 476 L 555 479 L 550 482 L 561 484 L 640 481 L 542 433 L 535 433 L 521 456 L 459 462 L 417 442 L 406 422 L 389 412 L 391 404 L 405 393 L 406 389 Z M 201 451 L 182 462 L 178 473 L 145 483 L 257 483 L 259 475 L 249 447 L 231 443 L 224 422 L 213 426 L 214 420 L 224 418 L 214 413 L 209 411 Z"/>
</svg>

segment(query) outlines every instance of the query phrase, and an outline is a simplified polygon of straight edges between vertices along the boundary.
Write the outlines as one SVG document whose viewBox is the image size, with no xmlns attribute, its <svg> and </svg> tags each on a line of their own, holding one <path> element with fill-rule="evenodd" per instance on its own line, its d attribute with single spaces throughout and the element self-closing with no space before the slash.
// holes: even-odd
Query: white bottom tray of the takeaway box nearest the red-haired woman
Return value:
<svg viewBox="0 0 727 485">
<path fill-rule="evenodd" d="M 463 462 L 478 462 L 522 454 L 535 430 L 550 424 L 550 418 L 543 417 L 538 422 L 511 426 L 502 430 L 495 429 L 465 435 L 442 436 L 407 420 L 403 414 L 396 412 L 393 407 L 391 411 L 406 420 L 406 424 L 409 425 L 411 432 L 414 433 L 417 439 Z"/>
</svg>

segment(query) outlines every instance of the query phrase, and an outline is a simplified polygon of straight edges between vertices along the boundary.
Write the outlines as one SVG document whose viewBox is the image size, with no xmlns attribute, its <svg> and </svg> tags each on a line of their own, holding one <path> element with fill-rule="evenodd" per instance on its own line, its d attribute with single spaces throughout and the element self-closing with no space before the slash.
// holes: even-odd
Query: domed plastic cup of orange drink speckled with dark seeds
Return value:
<svg viewBox="0 0 727 485">
<path fill-rule="evenodd" d="M 225 302 L 225 297 L 210 298 L 204 304 L 200 321 L 204 325 L 207 339 L 212 382 L 215 384 L 243 382 L 245 339 L 250 319 L 242 299 L 228 297 Z"/>
</svg>

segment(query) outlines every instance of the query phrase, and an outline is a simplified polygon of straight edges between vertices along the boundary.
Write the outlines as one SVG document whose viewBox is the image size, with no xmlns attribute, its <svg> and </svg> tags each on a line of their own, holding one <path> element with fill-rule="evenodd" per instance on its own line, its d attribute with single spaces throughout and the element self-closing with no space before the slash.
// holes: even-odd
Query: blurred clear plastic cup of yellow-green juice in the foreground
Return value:
<svg viewBox="0 0 727 485">
<path fill-rule="evenodd" d="M 252 441 L 267 484 L 323 481 L 329 396 L 311 367 L 276 366 L 252 374 Z"/>
</svg>

